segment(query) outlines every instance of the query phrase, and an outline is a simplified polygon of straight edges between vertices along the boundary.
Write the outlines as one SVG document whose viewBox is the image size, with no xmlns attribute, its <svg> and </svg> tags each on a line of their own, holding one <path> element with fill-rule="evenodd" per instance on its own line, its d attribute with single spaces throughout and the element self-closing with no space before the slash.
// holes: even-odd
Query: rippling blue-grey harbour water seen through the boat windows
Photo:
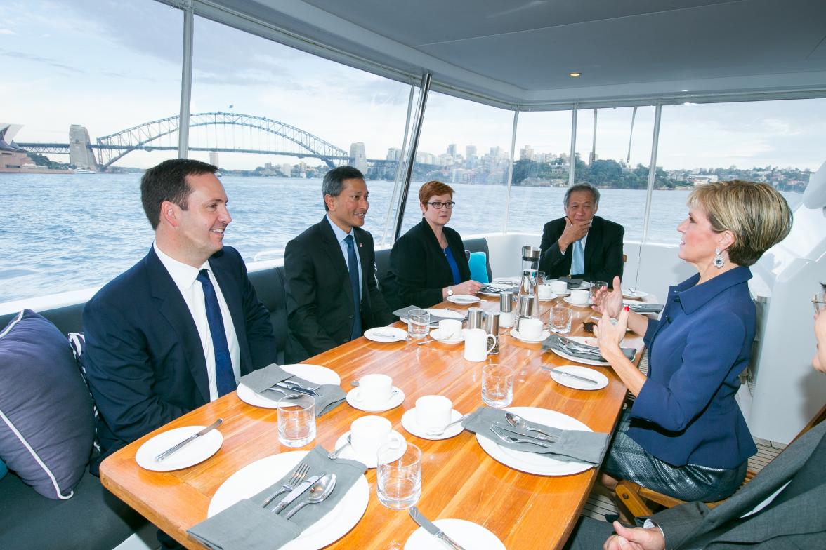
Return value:
<svg viewBox="0 0 826 550">
<path fill-rule="evenodd" d="M 280 257 L 287 241 L 324 216 L 321 181 L 224 176 L 233 222 L 225 244 L 244 260 Z M 140 260 L 152 231 L 140 206 L 140 174 L 0 174 L 7 209 L 0 226 L 0 303 L 99 287 Z M 382 242 L 392 181 L 370 181 L 365 228 Z M 403 230 L 420 220 L 411 186 Z M 505 230 L 505 186 L 451 184 L 456 191 L 450 227 L 463 236 Z M 644 190 L 601 190 L 599 214 L 622 223 L 626 240 L 643 234 Z M 686 215 L 687 190 L 654 191 L 648 238 L 676 242 Z M 563 188 L 514 187 L 509 232 L 541 233 L 562 215 Z M 390 230 L 392 233 L 392 228 Z M 387 240 L 389 242 L 389 239 Z"/>
</svg>

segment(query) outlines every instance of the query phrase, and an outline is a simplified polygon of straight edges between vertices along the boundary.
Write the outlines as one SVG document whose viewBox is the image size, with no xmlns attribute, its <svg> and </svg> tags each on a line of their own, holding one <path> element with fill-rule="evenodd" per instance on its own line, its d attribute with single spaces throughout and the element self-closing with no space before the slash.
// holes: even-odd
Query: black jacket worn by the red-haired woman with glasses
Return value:
<svg viewBox="0 0 826 550">
<path fill-rule="evenodd" d="M 469 280 L 470 267 L 462 237 L 451 228 L 444 228 L 444 236 L 459 268 L 459 282 Z M 433 229 L 422 219 L 402 235 L 390 251 L 390 270 L 382 280 L 387 303 L 394 310 L 411 304 L 430 308 L 442 301 L 442 289 L 451 284 L 453 272 L 448 259 Z"/>
</svg>

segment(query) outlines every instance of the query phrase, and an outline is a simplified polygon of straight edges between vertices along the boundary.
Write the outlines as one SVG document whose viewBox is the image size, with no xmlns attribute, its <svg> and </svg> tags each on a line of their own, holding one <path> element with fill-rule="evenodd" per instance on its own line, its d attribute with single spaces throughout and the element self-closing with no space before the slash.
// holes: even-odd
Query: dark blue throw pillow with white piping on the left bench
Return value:
<svg viewBox="0 0 826 550">
<path fill-rule="evenodd" d="M 92 397 L 69 341 L 26 309 L 0 331 L 0 458 L 40 493 L 72 496 L 94 439 Z"/>
</svg>

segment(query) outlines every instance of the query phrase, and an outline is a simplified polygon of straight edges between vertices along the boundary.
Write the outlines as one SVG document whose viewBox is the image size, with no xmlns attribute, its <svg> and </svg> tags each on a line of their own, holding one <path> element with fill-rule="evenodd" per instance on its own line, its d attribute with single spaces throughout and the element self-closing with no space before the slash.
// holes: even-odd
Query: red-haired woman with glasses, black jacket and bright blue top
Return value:
<svg viewBox="0 0 826 550">
<path fill-rule="evenodd" d="M 453 189 L 428 181 L 419 189 L 424 218 L 399 237 L 390 252 L 390 271 L 382 281 L 393 309 L 411 304 L 430 308 L 453 294 L 476 294 L 462 237 L 445 227 L 453 214 Z"/>
</svg>

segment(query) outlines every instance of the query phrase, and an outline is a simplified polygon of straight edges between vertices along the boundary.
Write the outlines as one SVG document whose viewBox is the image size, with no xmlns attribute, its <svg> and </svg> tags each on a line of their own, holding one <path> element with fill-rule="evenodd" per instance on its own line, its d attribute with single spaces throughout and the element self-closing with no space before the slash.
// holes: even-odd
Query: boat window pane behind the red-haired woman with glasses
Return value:
<svg viewBox="0 0 826 550">
<path fill-rule="evenodd" d="M 504 231 L 514 111 L 430 92 L 401 234 L 421 221 L 419 188 L 439 180 L 456 202 L 449 227 L 463 237 Z"/>
</svg>

